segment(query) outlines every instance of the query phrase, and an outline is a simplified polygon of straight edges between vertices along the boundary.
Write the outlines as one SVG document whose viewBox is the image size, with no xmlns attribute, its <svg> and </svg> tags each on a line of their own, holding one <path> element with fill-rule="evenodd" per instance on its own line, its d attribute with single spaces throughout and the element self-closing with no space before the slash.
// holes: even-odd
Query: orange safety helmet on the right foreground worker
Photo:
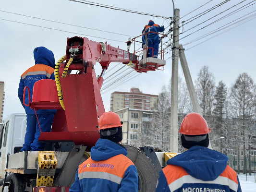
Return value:
<svg viewBox="0 0 256 192">
<path fill-rule="evenodd" d="M 183 119 L 179 132 L 183 135 L 204 135 L 211 132 L 211 129 L 199 113 L 189 113 Z"/>
</svg>

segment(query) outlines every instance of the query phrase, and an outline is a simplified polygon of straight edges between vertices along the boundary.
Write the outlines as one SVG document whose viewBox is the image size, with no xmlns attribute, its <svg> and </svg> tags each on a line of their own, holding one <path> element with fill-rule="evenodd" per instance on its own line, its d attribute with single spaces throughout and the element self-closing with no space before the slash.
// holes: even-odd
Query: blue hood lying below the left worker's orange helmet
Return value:
<svg viewBox="0 0 256 192">
<path fill-rule="evenodd" d="M 108 139 L 98 139 L 95 146 L 91 149 L 91 158 L 94 161 L 107 160 L 120 154 L 126 156 L 127 150 Z"/>
</svg>

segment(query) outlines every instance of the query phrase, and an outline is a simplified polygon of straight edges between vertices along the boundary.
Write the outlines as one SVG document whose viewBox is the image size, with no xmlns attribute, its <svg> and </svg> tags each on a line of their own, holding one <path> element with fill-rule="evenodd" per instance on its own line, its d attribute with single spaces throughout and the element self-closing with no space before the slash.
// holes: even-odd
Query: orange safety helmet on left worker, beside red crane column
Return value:
<svg viewBox="0 0 256 192">
<path fill-rule="evenodd" d="M 122 121 L 119 115 L 112 111 L 103 113 L 98 120 L 98 130 L 112 127 L 122 127 Z"/>
</svg>

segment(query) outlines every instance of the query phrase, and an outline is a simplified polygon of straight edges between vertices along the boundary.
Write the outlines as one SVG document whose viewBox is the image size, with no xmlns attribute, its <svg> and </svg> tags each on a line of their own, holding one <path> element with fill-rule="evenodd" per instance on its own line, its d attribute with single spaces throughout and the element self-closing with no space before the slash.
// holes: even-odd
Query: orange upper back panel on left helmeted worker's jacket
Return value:
<svg viewBox="0 0 256 192">
<path fill-rule="evenodd" d="M 78 174 L 87 171 L 107 172 L 123 178 L 126 169 L 131 165 L 134 165 L 133 162 L 122 154 L 103 161 L 94 161 L 90 157 L 79 166 Z"/>
</svg>

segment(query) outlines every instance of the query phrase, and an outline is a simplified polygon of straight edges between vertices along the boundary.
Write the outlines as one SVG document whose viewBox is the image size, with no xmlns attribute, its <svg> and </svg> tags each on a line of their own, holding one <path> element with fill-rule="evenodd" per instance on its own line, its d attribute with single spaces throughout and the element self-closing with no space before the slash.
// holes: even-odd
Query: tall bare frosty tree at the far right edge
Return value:
<svg viewBox="0 0 256 192">
<path fill-rule="evenodd" d="M 242 122 L 241 135 L 244 144 L 244 163 L 246 162 L 245 145 L 248 144 L 246 133 L 248 132 L 248 124 L 255 115 L 255 84 L 253 79 L 247 74 L 242 73 L 238 76 L 235 84 L 231 88 L 230 98 L 232 100 L 232 112 L 234 118 Z M 249 144 L 249 152 L 251 145 Z M 249 153 L 250 154 L 250 153 Z M 249 168 L 251 166 L 251 158 L 249 155 Z M 244 166 L 243 173 L 245 173 Z"/>
</svg>

